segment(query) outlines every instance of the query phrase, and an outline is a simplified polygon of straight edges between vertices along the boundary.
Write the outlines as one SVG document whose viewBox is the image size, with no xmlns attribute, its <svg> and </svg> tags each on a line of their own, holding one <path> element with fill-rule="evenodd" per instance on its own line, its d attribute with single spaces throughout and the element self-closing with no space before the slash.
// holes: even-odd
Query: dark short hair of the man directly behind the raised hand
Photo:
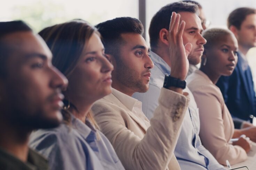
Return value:
<svg viewBox="0 0 256 170">
<path fill-rule="evenodd" d="M 170 19 L 172 12 L 191 12 L 197 13 L 198 6 L 193 3 L 186 2 L 174 2 L 162 7 L 153 16 L 149 26 L 149 37 L 150 37 L 150 47 L 157 47 L 157 42 L 159 39 L 159 32 L 161 29 L 165 28 L 169 30 Z"/>
</svg>

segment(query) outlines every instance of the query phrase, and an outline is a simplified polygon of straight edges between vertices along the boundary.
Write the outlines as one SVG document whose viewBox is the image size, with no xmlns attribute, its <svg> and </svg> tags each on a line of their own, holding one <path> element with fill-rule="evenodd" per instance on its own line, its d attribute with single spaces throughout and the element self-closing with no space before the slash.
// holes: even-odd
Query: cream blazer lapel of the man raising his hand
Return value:
<svg viewBox="0 0 256 170">
<path fill-rule="evenodd" d="M 115 95 L 113 95 L 112 93 L 103 97 L 103 99 L 107 100 L 108 102 L 117 105 L 118 107 L 121 107 L 122 109 L 124 109 L 129 116 L 145 131 L 147 131 L 148 127 L 145 125 L 145 123 L 143 121 L 146 120 L 142 120 L 140 119 L 135 113 L 133 113 L 131 110 L 129 110 L 128 108 L 125 107 L 125 105 L 119 101 L 117 99 L 117 97 Z"/>
</svg>

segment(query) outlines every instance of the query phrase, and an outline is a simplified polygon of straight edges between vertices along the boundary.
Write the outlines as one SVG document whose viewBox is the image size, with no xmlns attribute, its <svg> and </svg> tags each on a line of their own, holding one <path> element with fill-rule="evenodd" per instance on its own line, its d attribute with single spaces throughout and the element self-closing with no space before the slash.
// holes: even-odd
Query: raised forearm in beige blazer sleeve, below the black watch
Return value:
<svg viewBox="0 0 256 170">
<path fill-rule="evenodd" d="M 178 108 L 178 105 L 183 106 Z M 151 126 L 132 153 L 133 158 L 140 160 L 137 161 L 137 166 L 141 166 L 142 169 L 167 167 L 177 143 L 187 105 L 188 99 L 185 96 L 166 89 L 161 90 L 159 106 L 150 120 Z M 180 117 L 174 121 L 178 109 L 181 109 Z"/>
</svg>

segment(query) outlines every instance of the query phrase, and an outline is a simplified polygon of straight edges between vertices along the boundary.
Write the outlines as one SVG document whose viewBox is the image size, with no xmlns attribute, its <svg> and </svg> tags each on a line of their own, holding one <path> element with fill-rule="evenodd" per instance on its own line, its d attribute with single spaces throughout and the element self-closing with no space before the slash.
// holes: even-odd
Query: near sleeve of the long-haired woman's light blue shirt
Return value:
<svg viewBox="0 0 256 170">
<path fill-rule="evenodd" d="M 90 146 L 72 133 L 72 129 L 69 134 L 38 130 L 32 133 L 30 146 L 49 160 L 51 170 L 103 169 Z"/>
</svg>

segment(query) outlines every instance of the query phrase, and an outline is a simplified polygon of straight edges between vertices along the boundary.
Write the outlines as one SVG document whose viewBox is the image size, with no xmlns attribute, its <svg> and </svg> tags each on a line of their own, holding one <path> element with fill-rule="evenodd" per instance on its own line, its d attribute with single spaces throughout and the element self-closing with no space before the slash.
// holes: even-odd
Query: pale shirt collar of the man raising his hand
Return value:
<svg viewBox="0 0 256 170">
<path fill-rule="evenodd" d="M 134 99 L 133 97 L 126 95 L 122 92 L 119 92 L 115 88 L 112 88 L 112 94 L 130 111 L 132 111 L 135 103 L 138 102 L 137 99 Z"/>
</svg>

